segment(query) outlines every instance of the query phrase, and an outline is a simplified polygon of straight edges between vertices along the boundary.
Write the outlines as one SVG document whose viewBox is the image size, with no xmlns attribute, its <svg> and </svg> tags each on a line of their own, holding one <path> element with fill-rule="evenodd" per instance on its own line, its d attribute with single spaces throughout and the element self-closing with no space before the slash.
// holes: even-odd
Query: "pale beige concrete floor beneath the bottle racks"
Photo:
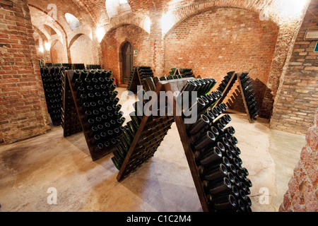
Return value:
<svg viewBox="0 0 318 226">
<path fill-rule="evenodd" d="M 124 99 L 129 119 L 134 100 Z M 252 210 L 278 211 L 305 136 L 273 131 L 263 119 L 249 124 L 245 114 L 230 116 L 253 183 Z M 93 162 L 83 133 L 64 138 L 60 126 L 1 145 L 0 211 L 202 211 L 175 124 L 151 161 L 120 183 L 111 157 Z M 57 204 L 49 205 L 51 187 L 57 189 Z"/>
</svg>

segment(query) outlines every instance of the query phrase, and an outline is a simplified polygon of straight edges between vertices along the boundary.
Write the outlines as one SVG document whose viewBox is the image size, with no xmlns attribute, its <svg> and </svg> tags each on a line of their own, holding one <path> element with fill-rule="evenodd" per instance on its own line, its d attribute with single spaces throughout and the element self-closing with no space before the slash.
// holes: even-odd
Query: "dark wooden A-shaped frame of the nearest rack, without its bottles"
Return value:
<svg viewBox="0 0 318 226">
<path fill-rule="evenodd" d="M 193 79 L 195 78 L 181 78 L 181 79 L 170 80 L 170 81 L 160 81 L 158 82 L 156 86 L 155 93 L 157 93 L 158 97 L 160 97 L 159 95 L 160 91 L 171 91 L 172 93 L 180 92 L 182 88 L 184 87 L 184 85 L 187 83 L 187 81 L 193 80 Z M 160 102 L 163 100 L 159 99 L 159 100 L 151 100 L 151 101 L 154 103 L 154 102 Z M 192 177 L 194 179 L 194 184 L 196 186 L 196 191 L 199 195 L 201 206 L 205 212 L 208 212 L 209 211 L 208 199 L 206 197 L 206 194 L 204 193 L 204 185 L 201 182 L 199 171 L 198 171 L 198 168 L 196 167 L 196 162 L 194 159 L 194 154 L 193 154 L 194 152 L 191 148 L 191 143 L 193 141 L 192 141 L 192 138 L 189 138 L 189 136 L 187 136 L 187 131 L 186 131 L 187 125 L 184 124 L 182 116 L 177 115 L 176 106 L 177 106 L 177 102 L 175 98 L 173 98 L 173 119 L 175 119 L 175 123 L 177 124 L 179 136 L 184 148 L 184 153 L 187 157 L 187 162 L 189 164 Z M 129 151 L 126 155 L 126 158 L 122 164 L 122 167 L 119 170 L 119 173 L 117 175 L 118 181 L 121 181 L 122 179 L 127 177 L 131 172 L 133 172 L 134 170 L 136 170 L 138 167 L 140 167 L 143 164 L 143 162 L 140 162 L 140 161 L 138 164 L 134 164 L 134 162 L 136 162 L 134 161 L 134 157 L 136 157 L 136 152 L 139 151 L 138 148 L 136 148 L 136 145 L 139 142 L 141 135 L 145 131 L 146 125 L 150 121 L 150 117 L 147 117 L 146 115 L 147 114 L 145 114 L 143 116 L 143 119 L 141 120 L 139 129 L 136 132 L 136 135 L 134 136 L 134 141 L 132 141 Z M 145 160 L 148 160 L 148 159 L 145 159 Z"/>
</svg>

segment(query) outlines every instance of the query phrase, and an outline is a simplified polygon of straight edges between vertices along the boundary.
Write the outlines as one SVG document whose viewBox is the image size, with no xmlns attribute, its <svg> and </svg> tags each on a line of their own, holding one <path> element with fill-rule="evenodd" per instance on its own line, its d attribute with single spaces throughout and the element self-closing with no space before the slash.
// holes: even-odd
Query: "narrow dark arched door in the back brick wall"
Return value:
<svg viewBox="0 0 318 226">
<path fill-rule="evenodd" d="M 129 42 L 124 42 L 120 52 L 122 52 L 122 83 L 128 84 L 130 73 L 134 66 L 133 48 Z"/>
</svg>

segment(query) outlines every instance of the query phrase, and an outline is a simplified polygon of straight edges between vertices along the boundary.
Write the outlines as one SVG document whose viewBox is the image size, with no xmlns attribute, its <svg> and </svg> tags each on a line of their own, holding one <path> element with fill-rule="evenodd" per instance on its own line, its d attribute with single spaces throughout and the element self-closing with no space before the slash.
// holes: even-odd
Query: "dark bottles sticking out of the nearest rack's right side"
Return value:
<svg viewBox="0 0 318 226">
<path fill-rule="evenodd" d="M 184 86 L 183 90 L 194 90 L 199 94 L 196 102 L 184 111 L 184 119 L 187 110 L 195 108 L 198 112 L 196 123 L 187 126 L 187 135 L 192 141 L 196 170 L 204 186 L 209 211 L 249 212 L 252 202 L 248 195 L 252 182 L 247 178 L 247 169 L 242 166 L 235 129 L 226 127 L 231 121 L 230 115 L 223 114 L 227 106 L 223 103 L 215 106 L 223 94 L 220 90 L 208 94 L 202 81 L 197 79 L 192 81 L 196 85 L 188 82 Z"/>
</svg>

